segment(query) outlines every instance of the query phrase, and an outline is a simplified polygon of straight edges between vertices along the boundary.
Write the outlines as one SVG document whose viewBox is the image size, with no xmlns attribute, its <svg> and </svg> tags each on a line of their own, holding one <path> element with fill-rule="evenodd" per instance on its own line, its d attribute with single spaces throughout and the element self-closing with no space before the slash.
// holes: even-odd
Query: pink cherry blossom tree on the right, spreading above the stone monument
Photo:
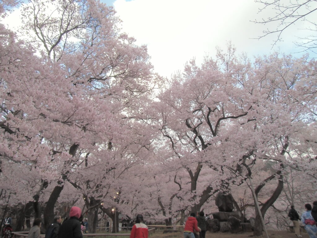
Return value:
<svg viewBox="0 0 317 238">
<path fill-rule="evenodd" d="M 243 183 L 256 161 L 273 161 L 274 172 L 255 188 L 259 195 L 265 184 L 276 184 L 262 202 L 264 216 L 281 194 L 285 165 L 315 168 L 315 139 L 305 132 L 316 116 L 315 61 L 274 54 L 252 65 L 234 51 L 218 50 L 217 61 L 207 58 L 201 67 L 191 61 L 175 76 L 158 103 L 158 128 L 170 143 L 166 163 L 188 172 L 191 211 Z"/>
</svg>

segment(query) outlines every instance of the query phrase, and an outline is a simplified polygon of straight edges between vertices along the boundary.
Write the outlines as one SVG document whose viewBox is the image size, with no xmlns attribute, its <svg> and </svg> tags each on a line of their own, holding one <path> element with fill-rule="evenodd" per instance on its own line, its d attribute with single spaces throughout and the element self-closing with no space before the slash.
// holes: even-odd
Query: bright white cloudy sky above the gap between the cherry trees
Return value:
<svg viewBox="0 0 317 238">
<path fill-rule="evenodd" d="M 225 50 L 227 41 L 234 44 L 237 52 L 246 52 L 250 58 L 273 51 L 287 54 L 300 51 L 293 42 L 301 26 L 285 31 L 284 41 L 273 49 L 276 35 L 254 39 L 269 26 L 252 21 L 266 18 L 270 13 L 258 14 L 263 6 L 254 0 L 101 1 L 117 11 L 124 32 L 135 37 L 138 44 L 148 46 L 155 71 L 162 76 L 169 77 L 182 70 L 184 63 L 193 57 L 198 64 L 206 55 L 215 57 L 216 46 Z M 10 24 L 14 19 L 9 20 Z"/>
</svg>

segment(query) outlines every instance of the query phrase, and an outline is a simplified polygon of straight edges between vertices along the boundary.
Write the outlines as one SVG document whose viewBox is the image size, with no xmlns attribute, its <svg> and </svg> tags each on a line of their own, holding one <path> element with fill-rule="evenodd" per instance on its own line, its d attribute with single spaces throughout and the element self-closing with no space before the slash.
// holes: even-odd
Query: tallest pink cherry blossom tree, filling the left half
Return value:
<svg viewBox="0 0 317 238">
<path fill-rule="evenodd" d="M 144 105 L 161 79 L 146 46 L 120 33 L 119 19 L 104 4 L 30 1 L 24 12 L 24 41 L 15 43 L 11 34 L 2 45 L 2 166 L 14 162 L 55 182 L 44 208 L 48 224 L 65 181 L 89 190 L 84 195 L 97 186 L 100 195 L 94 168 L 107 168 L 104 180 L 150 149 L 137 121 L 146 120 Z M 98 194 L 89 199 L 98 201 Z"/>
</svg>

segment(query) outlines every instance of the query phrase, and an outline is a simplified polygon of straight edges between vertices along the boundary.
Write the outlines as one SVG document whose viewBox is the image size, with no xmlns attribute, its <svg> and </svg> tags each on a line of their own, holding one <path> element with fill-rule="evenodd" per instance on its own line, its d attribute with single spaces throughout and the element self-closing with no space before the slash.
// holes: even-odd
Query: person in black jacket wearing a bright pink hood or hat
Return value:
<svg viewBox="0 0 317 238">
<path fill-rule="evenodd" d="M 80 216 L 81 209 L 79 207 L 70 208 L 69 219 L 61 224 L 58 238 L 82 238 Z"/>
</svg>

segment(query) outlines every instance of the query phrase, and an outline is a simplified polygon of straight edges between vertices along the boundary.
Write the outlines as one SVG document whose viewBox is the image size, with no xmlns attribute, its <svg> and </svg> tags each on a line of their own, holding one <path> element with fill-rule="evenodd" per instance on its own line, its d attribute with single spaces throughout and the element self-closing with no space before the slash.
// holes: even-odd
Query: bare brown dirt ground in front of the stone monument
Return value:
<svg viewBox="0 0 317 238">
<path fill-rule="evenodd" d="M 301 234 L 303 238 L 309 238 L 309 235 L 307 233 Z M 269 238 L 296 238 L 295 233 L 291 233 L 288 231 L 268 231 Z M 177 233 L 166 233 L 163 234 L 163 230 L 158 230 L 154 234 L 150 235 L 149 238 L 182 238 L 183 233 L 177 232 Z M 231 234 L 231 233 L 211 233 L 206 232 L 206 238 L 248 238 L 248 237 L 254 237 L 252 232 L 245 232 L 245 233 L 239 233 L 239 234 Z M 260 238 L 266 238 L 265 232 L 263 232 L 263 235 L 260 236 Z"/>
</svg>

